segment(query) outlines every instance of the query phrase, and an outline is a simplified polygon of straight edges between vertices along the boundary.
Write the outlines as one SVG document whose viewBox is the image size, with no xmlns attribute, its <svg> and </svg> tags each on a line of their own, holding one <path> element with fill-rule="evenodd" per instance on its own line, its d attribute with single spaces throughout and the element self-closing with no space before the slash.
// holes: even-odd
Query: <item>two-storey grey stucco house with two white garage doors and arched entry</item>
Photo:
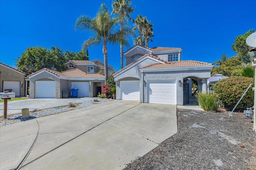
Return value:
<svg viewBox="0 0 256 170">
<path fill-rule="evenodd" d="M 211 63 L 181 61 L 182 48 L 135 45 L 124 52 L 127 66 L 113 74 L 116 99 L 143 103 L 189 104 L 194 79 L 207 92 Z"/>
</svg>

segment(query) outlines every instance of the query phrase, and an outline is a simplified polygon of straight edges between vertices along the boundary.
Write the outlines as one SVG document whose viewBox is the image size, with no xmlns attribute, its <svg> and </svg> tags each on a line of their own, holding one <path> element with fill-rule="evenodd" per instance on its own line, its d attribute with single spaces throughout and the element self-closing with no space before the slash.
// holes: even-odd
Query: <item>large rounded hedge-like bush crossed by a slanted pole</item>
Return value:
<svg viewBox="0 0 256 170">
<path fill-rule="evenodd" d="M 232 109 L 236 106 L 238 100 L 242 97 L 253 78 L 249 77 L 229 77 L 218 81 L 214 85 L 214 92 L 218 99 L 224 104 L 226 108 Z M 252 107 L 254 101 L 254 91 L 252 86 L 247 91 L 244 98 L 238 104 L 236 109 L 245 109 L 246 107 Z"/>
</svg>

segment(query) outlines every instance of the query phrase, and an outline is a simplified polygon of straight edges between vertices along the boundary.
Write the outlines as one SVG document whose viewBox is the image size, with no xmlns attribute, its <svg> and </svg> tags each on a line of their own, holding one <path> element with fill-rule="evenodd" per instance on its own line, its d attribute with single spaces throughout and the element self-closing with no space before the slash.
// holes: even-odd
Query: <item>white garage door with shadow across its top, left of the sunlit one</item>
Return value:
<svg viewBox="0 0 256 170">
<path fill-rule="evenodd" d="M 140 100 L 140 81 L 120 81 L 122 100 Z"/>
</svg>

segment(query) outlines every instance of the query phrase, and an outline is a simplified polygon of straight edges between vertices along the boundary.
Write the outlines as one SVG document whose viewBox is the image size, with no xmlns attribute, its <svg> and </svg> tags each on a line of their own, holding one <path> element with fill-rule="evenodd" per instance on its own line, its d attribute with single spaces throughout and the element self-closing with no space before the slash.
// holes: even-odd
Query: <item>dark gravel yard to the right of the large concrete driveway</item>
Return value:
<svg viewBox="0 0 256 170">
<path fill-rule="evenodd" d="M 178 109 L 178 133 L 125 169 L 255 170 L 253 123 L 244 113 L 228 113 Z"/>
</svg>

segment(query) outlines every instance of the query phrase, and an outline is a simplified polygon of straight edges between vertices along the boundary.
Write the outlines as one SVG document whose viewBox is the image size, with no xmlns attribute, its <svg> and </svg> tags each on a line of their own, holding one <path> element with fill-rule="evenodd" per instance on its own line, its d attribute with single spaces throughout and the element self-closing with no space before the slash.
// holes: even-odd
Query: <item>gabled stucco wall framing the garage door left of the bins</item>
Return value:
<svg viewBox="0 0 256 170">
<path fill-rule="evenodd" d="M 30 92 L 29 97 L 36 97 L 36 81 L 56 81 L 56 98 L 61 98 L 60 78 L 54 76 L 48 72 L 42 72 L 36 76 L 29 78 L 30 80 Z"/>
</svg>

